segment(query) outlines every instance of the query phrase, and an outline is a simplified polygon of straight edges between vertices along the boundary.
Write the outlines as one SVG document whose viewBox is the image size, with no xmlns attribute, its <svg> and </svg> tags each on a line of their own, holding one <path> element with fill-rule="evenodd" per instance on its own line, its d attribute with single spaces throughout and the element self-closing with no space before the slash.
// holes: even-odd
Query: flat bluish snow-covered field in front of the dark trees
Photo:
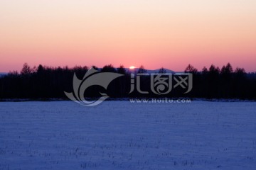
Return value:
<svg viewBox="0 0 256 170">
<path fill-rule="evenodd" d="M 256 103 L 0 103 L 0 169 L 256 169 Z"/>
</svg>

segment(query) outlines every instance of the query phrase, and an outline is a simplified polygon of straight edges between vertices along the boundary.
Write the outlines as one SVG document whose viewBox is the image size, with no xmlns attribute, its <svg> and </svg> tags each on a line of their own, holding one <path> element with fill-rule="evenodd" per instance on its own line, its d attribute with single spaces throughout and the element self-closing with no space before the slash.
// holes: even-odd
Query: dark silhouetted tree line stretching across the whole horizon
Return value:
<svg viewBox="0 0 256 170">
<path fill-rule="evenodd" d="M 246 73 L 245 69 L 236 68 L 233 70 L 231 64 L 226 64 L 221 69 L 211 65 L 208 69 L 203 67 L 199 72 L 191 64 L 186 67 L 185 72 L 193 74 L 193 89 L 188 94 L 183 94 L 182 89 L 176 89 L 171 93 L 158 96 L 153 93 L 140 94 L 134 91 L 129 94 L 131 77 L 129 71 L 123 66 L 114 68 L 112 64 L 102 69 L 94 66 L 100 72 L 115 72 L 124 74 L 110 83 L 107 94 L 113 98 L 119 97 L 191 97 L 191 98 L 242 98 L 256 99 L 256 74 Z M 38 67 L 30 67 L 23 64 L 20 74 L 10 72 L 0 77 L 0 98 L 67 98 L 63 91 L 73 91 L 73 75 L 82 79 L 88 67 L 46 67 L 41 64 Z M 137 73 L 146 73 L 141 66 Z M 166 69 L 159 69 L 159 73 L 165 74 Z M 141 77 L 143 91 L 150 91 L 150 77 Z M 100 92 L 106 90 L 99 86 L 91 86 L 85 91 L 86 97 L 98 97 Z"/>
</svg>

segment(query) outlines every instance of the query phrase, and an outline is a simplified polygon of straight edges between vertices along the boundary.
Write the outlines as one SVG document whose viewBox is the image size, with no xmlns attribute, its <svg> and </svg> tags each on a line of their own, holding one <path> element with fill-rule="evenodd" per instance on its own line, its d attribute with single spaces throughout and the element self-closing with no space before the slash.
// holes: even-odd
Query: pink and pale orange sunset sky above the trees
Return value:
<svg viewBox="0 0 256 170">
<path fill-rule="evenodd" d="M 256 71 L 255 0 L 1 0 L 0 72 L 23 63 Z"/>
</svg>

